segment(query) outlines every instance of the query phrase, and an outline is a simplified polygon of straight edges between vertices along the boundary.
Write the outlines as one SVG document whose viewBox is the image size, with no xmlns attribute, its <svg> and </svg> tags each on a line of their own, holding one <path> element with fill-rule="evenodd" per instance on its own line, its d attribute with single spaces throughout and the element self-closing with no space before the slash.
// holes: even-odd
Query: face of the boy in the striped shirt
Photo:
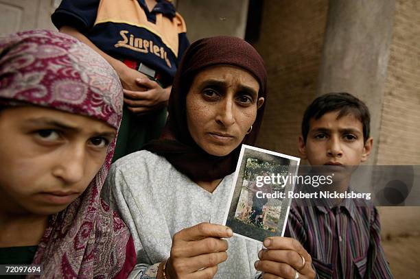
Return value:
<svg viewBox="0 0 420 279">
<path fill-rule="evenodd" d="M 345 115 L 337 119 L 339 112 L 327 112 L 320 119 L 310 119 L 306 143 L 299 138 L 301 156 L 310 165 L 357 166 L 369 158 L 373 139 L 364 143 L 362 123 Z"/>
</svg>

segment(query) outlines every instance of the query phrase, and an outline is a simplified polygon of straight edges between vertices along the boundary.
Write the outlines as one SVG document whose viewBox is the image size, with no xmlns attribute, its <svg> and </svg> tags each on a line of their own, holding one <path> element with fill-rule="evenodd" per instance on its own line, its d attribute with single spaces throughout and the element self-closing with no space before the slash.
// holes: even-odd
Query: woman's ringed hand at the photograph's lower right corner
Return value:
<svg viewBox="0 0 420 279">
<path fill-rule="evenodd" d="M 263 272 L 264 279 L 315 278 L 311 256 L 296 239 L 269 237 L 264 240 L 264 246 L 266 249 L 259 251 L 259 260 L 255 262 L 255 268 Z"/>
</svg>

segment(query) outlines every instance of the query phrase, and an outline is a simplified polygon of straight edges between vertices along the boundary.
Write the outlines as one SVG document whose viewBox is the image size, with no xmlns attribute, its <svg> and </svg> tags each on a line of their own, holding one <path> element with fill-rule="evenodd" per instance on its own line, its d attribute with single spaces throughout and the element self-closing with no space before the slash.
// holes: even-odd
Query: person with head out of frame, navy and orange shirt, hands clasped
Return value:
<svg viewBox="0 0 420 279">
<path fill-rule="evenodd" d="M 124 113 L 113 160 L 158 138 L 183 52 L 185 21 L 167 0 L 63 0 L 51 19 L 113 66 L 124 87 Z"/>
</svg>

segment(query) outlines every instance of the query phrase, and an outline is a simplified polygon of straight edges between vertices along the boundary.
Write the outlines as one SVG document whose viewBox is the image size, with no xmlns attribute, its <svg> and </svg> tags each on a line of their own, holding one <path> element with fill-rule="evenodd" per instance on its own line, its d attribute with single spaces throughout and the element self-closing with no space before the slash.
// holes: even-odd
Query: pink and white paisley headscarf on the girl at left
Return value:
<svg viewBox="0 0 420 279">
<path fill-rule="evenodd" d="M 123 92 L 99 54 L 65 34 L 39 30 L 0 38 L 0 104 L 54 108 L 118 129 Z M 44 265 L 42 278 L 113 278 L 124 265 L 130 233 L 100 199 L 114 148 L 115 141 L 86 191 L 51 217 L 33 260 Z"/>
</svg>

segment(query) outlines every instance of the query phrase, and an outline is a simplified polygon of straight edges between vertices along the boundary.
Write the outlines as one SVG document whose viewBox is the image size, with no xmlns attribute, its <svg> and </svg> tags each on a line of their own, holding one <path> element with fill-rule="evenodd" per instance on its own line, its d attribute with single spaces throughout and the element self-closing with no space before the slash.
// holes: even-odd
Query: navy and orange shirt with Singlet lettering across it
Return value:
<svg viewBox="0 0 420 279">
<path fill-rule="evenodd" d="M 149 66 L 169 84 L 189 46 L 184 19 L 165 0 L 152 11 L 145 0 L 63 0 L 51 19 L 58 29 L 75 27 L 113 58 Z"/>
</svg>

